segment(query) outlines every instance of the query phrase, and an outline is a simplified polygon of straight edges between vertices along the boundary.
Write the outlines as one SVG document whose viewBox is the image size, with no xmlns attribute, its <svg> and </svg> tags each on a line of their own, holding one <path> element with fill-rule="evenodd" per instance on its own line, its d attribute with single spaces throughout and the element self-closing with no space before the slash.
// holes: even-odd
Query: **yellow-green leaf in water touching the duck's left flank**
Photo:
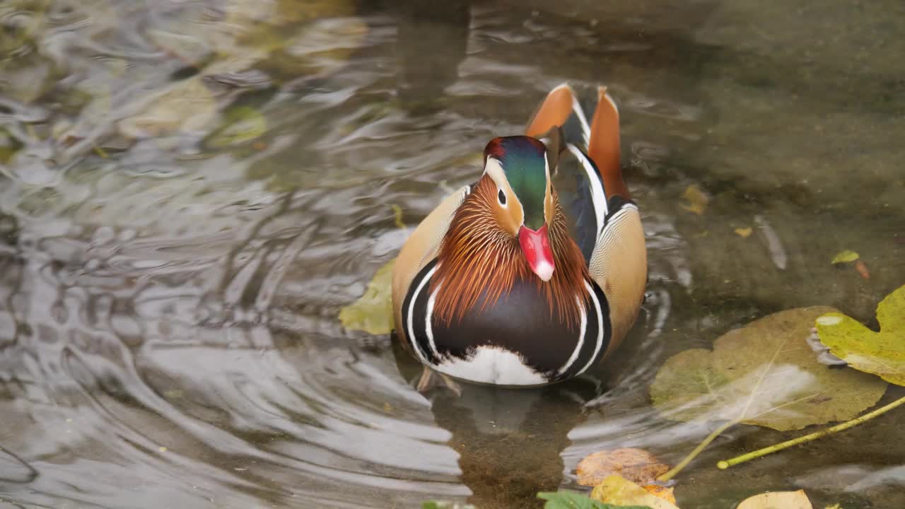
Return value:
<svg viewBox="0 0 905 509">
<path fill-rule="evenodd" d="M 348 331 L 374 335 L 393 331 L 393 264 L 395 258 L 377 269 L 365 294 L 339 311 L 339 322 Z"/>
</svg>

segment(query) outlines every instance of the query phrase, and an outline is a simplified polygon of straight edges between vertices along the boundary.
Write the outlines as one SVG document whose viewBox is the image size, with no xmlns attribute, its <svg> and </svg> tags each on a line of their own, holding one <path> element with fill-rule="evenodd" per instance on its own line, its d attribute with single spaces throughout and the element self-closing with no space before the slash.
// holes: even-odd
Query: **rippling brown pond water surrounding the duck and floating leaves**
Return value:
<svg viewBox="0 0 905 509">
<path fill-rule="evenodd" d="M 673 353 L 805 305 L 875 327 L 905 283 L 900 0 L 439 4 L 0 4 L 0 508 L 538 506 L 710 431 L 651 406 Z M 567 80 L 622 111 L 641 317 L 580 379 L 424 397 L 338 312 Z M 735 427 L 679 504 L 905 506 L 903 416 L 719 471 L 795 435 Z"/>
</svg>

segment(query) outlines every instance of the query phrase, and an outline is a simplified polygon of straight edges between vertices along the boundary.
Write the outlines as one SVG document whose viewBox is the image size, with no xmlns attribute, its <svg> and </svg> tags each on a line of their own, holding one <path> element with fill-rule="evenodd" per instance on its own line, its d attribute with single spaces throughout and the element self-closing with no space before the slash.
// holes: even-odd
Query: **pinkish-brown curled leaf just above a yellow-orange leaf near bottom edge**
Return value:
<svg viewBox="0 0 905 509">
<path fill-rule="evenodd" d="M 633 447 L 596 452 L 578 463 L 578 484 L 599 485 L 609 475 L 622 475 L 625 479 L 644 485 L 670 469 L 656 456 Z"/>
</svg>

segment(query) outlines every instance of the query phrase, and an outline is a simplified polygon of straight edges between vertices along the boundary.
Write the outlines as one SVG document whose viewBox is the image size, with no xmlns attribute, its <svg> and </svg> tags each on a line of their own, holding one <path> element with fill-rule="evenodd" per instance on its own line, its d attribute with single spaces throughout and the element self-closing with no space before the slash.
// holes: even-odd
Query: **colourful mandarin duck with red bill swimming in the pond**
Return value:
<svg viewBox="0 0 905 509">
<path fill-rule="evenodd" d="M 632 327 L 647 283 L 641 216 L 622 178 L 619 112 L 605 87 L 590 95 L 549 91 L 524 134 L 491 139 L 481 178 L 405 241 L 393 310 L 424 364 L 419 389 L 432 370 L 452 386 L 571 379 Z"/>
</svg>

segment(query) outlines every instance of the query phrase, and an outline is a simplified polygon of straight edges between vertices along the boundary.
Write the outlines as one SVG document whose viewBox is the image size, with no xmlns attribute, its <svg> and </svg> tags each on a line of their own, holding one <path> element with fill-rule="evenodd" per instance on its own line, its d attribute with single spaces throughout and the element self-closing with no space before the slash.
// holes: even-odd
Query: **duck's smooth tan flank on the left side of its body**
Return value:
<svg viewBox="0 0 905 509">
<path fill-rule="evenodd" d="M 415 274 L 437 256 L 443 235 L 449 229 L 452 216 L 472 192 L 472 186 L 463 186 L 452 195 L 445 197 L 440 205 L 431 211 L 409 235 L 393 265 L 393 312 L 397 333 L 402 333 L 401 306 L 405 293 L 412 284 Z M 405 341 L 403 341 L 405 344 Z"/>
</svg>

